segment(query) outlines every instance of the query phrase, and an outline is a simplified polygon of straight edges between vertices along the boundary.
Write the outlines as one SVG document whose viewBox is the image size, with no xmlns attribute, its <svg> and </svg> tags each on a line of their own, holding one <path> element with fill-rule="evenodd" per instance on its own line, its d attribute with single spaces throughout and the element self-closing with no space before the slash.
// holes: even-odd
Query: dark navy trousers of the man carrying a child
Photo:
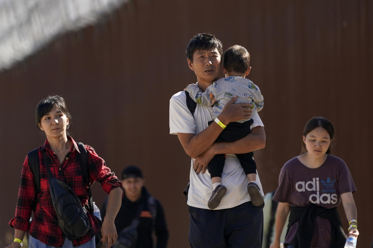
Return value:
<svg viewBox="0 0 373 248">
<path fill-rule="evenodd" d="M 220 210 L 189 206 L 189 221 L 191 248 L 261 248 L 263 209 L 251 202 Z"/>
</svg>

